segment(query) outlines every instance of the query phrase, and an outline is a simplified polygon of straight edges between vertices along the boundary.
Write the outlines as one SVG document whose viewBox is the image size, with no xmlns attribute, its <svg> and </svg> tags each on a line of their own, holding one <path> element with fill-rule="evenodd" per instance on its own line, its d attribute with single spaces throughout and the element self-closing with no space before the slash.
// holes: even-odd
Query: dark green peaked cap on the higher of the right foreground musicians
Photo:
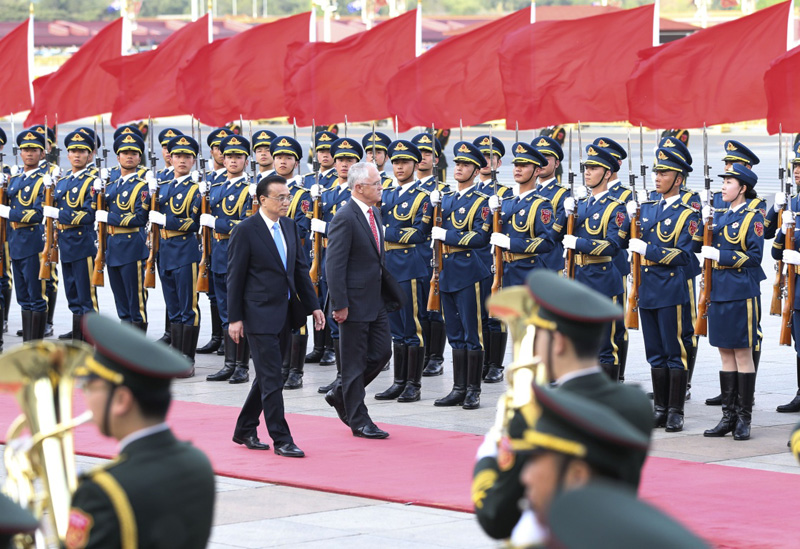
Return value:
<svg viewBox="0 0 800 549">
<path fill-rule="evenodd" d="M 622 307 L 581 282 L 554 271 L 536 269 L 526 279 L 538 305 L 529 318 L 537 328 L 558 331 L 571 338 L 594 337 L 606 323 L 622 318 Z"/>
</svg>

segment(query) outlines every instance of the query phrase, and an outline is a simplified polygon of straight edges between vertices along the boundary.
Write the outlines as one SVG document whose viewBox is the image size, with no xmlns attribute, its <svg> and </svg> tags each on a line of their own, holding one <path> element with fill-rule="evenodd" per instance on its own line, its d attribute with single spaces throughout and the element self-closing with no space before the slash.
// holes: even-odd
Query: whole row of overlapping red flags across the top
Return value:
<svg viewBox="0 0 800 549">
<path fill-rule="evenodd" d="M 194 114 L 353 121 L 397 116 L 400 129 L 505 118 L 522 129 L 628 120 L 698 127 L 767 118 L 800 130 L 800 47 L 786 52 L 791 2 L 652 47 L 654 6 L 531 24 L 530 8 L 452 36 L 420 56 L 419 9 L 335 43 L 311 41 L 310 13 L 211 42 L 210 16 L 157 49 L 122 56 L 122 22 L 89 40 L 32 102 L 31 22 L 0 40 L 0 115 L 27 124 L 111 111 L 118 124 Z M 623 38 L 624 37 L 624 38 Z"/>
</svg>

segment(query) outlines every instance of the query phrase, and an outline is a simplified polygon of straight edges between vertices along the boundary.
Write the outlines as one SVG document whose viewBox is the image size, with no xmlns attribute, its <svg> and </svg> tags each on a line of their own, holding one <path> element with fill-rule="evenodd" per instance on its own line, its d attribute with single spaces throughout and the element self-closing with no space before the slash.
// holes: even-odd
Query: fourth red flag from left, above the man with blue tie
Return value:
<svg viewBox="0 0 800 549">
<path fill-rule="evenodd" d="M 310 16 L 264 23 L 200 48 L 178 73 L 186 110 L 212 126 L 240 115 L 250 120 L 285 116 L 283 60 L 290 42 L 309 35 Z M 243 78 L 247 86 L 231 85 Z"/>
</svg>

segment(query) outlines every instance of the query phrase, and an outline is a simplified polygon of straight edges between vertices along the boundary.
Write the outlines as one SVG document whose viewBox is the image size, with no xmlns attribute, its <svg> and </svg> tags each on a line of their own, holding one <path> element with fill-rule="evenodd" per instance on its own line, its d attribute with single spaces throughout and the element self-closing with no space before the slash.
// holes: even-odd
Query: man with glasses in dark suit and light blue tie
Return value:
<svg viewBox="0 0 800 549">
<path fill-rule="evenodd" d="M 250 450 L 268 450 L 258 440 L 258 416 L 264 412 L 275 453 L 305 454 L 292 440 L 283 414 L 282 357 L 291 330 L 313 314 L 321 330 L 325 317 L 308 275 L 297 226 L 286 217 L 291 193 L 286 179 L 271 175 L 256 187 L 260 208 L 233 230 L 228 247 L 228 333 L 237 344 L 247 335 L 256 379 L 233 432 L 233 441 Z"/>
</svg>

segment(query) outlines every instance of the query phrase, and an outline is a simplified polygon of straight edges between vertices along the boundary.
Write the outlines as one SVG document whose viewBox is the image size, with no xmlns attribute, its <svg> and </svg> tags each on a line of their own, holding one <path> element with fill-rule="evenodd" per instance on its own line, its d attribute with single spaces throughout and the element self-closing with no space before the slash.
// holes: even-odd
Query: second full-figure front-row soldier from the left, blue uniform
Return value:
<svg viewBox="0 0 800 549">
<path fill-rule="evenodd" d="M 94 232 L 93 184 L 88 167 L 94 143 L 91 136 L 74 131 L 64 138 L 72 170 L 56 183 L 53 206 L 44 216 L 58 224 L 58 253 L 64 275 L 67 304 L 72 311 L 72 339 L 82 340 L 83 316 L 97 312 L 97 293 L 92 286 L 97 254 Z"/>
</svg>

